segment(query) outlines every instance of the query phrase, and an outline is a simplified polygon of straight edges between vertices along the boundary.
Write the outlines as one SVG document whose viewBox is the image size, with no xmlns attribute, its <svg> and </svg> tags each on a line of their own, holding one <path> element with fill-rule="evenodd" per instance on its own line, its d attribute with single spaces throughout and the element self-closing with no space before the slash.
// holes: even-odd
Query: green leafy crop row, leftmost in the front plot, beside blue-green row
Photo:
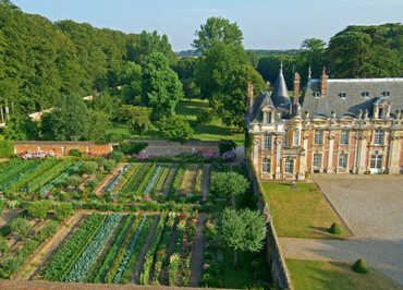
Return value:
<svg viewBox="0 0 403 290">
<path fill-rule="evenodd" d="M 45 269 L 44 278 L 49 281 L 63 280 L 73 263 L 78 258 L 90 241 L 90 238 L 103 223 L 105 219 L 106 216 L 103 215 L 91 214 L 84 223 L 80 226 L 77 231 L 56 252 L 51 262 Z"/>
</svg>

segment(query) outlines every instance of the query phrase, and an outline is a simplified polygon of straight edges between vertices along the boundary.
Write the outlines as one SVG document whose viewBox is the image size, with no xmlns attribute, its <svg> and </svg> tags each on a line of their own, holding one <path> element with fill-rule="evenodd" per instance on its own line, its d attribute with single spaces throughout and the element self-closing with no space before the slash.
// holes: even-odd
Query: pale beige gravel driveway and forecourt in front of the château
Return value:
<svg viewBox="0 0 403 290">
<path fill-rule="evenodd" d="M 349 240 L 280 238 L 290 258 L 354 262 L 358 257 L 403 286 L 403 177 L 313 176 L 352 229 Z"/>
</svg>

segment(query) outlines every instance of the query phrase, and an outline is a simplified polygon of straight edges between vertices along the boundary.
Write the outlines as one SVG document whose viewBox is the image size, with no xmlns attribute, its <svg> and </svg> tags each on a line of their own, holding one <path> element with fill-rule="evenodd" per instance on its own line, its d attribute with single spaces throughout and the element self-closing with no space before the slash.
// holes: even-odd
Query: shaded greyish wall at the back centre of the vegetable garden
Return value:
<svg viewBox="0 0 403 290">
<path fill-rule="evenodd" d="M 149 157 L 173 157 L 186 153 L 219 153 L 219 142 L 188 141 L 179 143 L 160 140 L 126 140 L 126 142 L 147 143 L 141 153 Z"/>
</svg>

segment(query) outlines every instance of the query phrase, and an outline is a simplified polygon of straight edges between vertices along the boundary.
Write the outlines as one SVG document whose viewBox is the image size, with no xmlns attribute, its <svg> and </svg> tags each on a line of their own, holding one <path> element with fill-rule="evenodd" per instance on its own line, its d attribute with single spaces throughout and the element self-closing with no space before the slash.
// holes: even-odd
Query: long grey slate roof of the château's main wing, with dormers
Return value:
<svg viewBox="0 0 403 290">
<path fill-rule="evenodd" d="M 368 92 L 369 96 L 363 96 L 364 92 Z M 325 97 L 315 97 L 315 93 L 320 93 L 320 80 L 310 80 L 301 99 L 302 111 L 328 117 L 332 111 L 338 116 L 357 116 L 359 110 L 371 113 L 374 101 L 383 98 L 383 92 L 390 93 L 386 98 L 392 104 L 392 116 L 395 110 L 403 110 L 402 77 L 328 80 L 328 94 Z M 341 93 L 345 97 L 341 97 Z"/>
</svg>

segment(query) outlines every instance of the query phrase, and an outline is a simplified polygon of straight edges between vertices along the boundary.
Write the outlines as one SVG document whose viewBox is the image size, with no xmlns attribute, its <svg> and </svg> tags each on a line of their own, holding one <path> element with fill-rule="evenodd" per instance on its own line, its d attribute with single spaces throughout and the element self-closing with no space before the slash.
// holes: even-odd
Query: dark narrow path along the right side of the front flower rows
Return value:
<svg viewBox="0 0 403 290">
<path fill-rule="evenodd" d="M 203 264 L 204 264 L 204 252 L 205 252 L 205 234 L 204 225 L 207 219 L 207 214 L 200 214 L 196 226 L 196 237 L 194 243 L 194 250 L 192 253 L 192 275 L 190 280 L 191 287 L 198 287 L 203 275 Z"/>
</svg>

